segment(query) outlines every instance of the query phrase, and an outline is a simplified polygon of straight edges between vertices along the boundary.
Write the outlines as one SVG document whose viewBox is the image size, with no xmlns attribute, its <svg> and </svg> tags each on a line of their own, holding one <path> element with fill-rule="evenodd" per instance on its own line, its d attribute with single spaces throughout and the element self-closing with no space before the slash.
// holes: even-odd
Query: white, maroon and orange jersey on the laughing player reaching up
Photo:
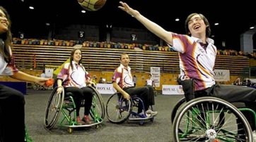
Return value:
<svg viewBox="0 0 256 142">
<path fill-rule="evenodd" d="M 169 45 L 179 52 L 180 79 L 194 78 L 195 91 L 215 84 L 214 65 L 217 49 L 213 39 L 207 38 L 206 41 L 207 46 L 196 37 L 173 33 L 173 46 Z"/>
</svg>

